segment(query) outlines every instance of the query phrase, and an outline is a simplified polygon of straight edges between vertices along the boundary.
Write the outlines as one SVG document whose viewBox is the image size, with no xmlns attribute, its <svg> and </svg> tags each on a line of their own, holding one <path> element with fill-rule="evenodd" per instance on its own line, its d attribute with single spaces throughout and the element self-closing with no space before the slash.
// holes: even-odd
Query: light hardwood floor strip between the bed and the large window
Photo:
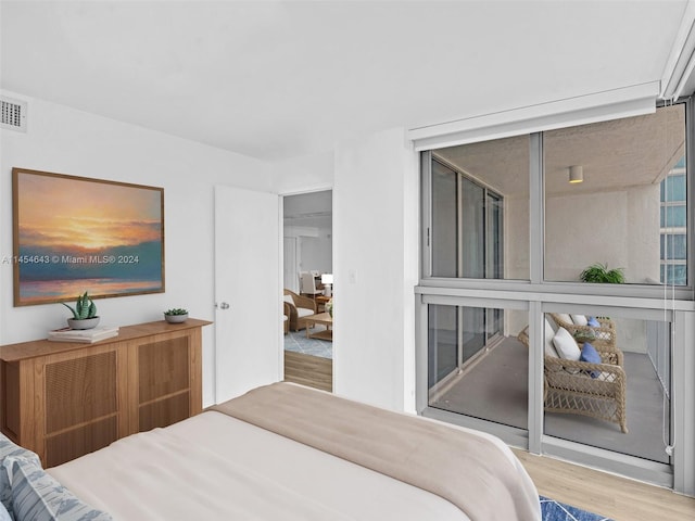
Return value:
<svg viewBox="0 0 695 521">
<path fill-rule="evenodd" d="M 615 521 L 691 521 L 695 499 L 659 486 L 514 449 L 539 494 Z"/>
</svg>

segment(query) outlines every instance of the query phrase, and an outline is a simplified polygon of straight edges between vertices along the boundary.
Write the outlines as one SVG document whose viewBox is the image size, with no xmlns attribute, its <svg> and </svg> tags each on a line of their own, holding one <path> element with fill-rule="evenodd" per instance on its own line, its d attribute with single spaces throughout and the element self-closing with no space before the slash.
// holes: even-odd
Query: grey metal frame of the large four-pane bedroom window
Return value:
<svg viewBox="0 0 695 521">
<path fill-rule="evenodd" d="M 695 494 L 695 381 L 692 368 L 695 367 L 695 298 L 694 298 L 694 255 L 693 236 L 695 236 L 694 211 L 695 205 L 693 167 L 695 163 L 695 147 L 693 123 L 693 103 L 691 99 L 680 100 L 685 103 L 685 143 L 686 143 L 686 193 L 687 206 L 687 272 L 690 280 L 685 287 L 666 284 L 583 284 L 581 282 L 554 282 L 543 278 L 544 266 L 544 179 L 543 179 L 543 134 L 529 134 L 529 125 L 515 127 L 509 120 L 504 125 L 485 128 L 472 128 L 470 131 L 452 134 L 443 126 L 441 136 L 437 137 L 437 129 L 430 127 L 424 137 L 410 132 L 415 150 L 420 152 L 420 279 L 415 288 L 415 377 L 416 377 L 416 410 L 418 414 L 440 420 L 460 424 L 489 432 L 500 436 L 506 443 L 525 447 L 533 454 L 547 454 L 565 459 L 604 468 L 608 471 L 629 475 L 631 478 L 652 481 L 664 486 L 672 486 L 674 491 Z M 652 98 L 654 106 L 654 98 Z M 629 117 L 634 114 L 620 113 L 618 109 L 611 117 Z M 644 114 L 646 112 L 642 112 Z M 565 119 L 565 126 L 593 123 Z M 543 130 L 543 118 L 532 120 L 530 125 L 538 125 L 530 130 Z M 514 131 L 518 128 L 518 131 Z M 511 130 L 509 130 L 511 129 Z M 509 130 L 509 131 L 507 131 Z M 431 229 L 431 152 L 438 148 L 453 147 L 468 142 L 494 140 L 501 137 L 530 136 L 529 164 L 529 264 L 528 280 L 504 279 L 447 279 L 431 276 L 430 241 Z M 475 139 L 471 136 L 475 135 Z M 692 151 L 691 153 L 687 153 Z M 450 304 L 473 307 L 528 308 L 529 332 L 532 347 L 529 348 L 529 407 L 528 431 L 521 431 L 495 423 L 485 422 L 470 417 L 462 417 L 453 412 L 431 410 L 428 407 L 428 305 Z M 543 433 L 543 357 L 542 338 L 543 314 L 551 310 L 583 313 L 586 308 L 603 308 L 607 312 L 620 312 L 623 316 L 644 318 L 646 316 L 664 317 L 670 323 L 672 344 L 671 390 L 673 399 L 672 436 L 677 449 L 673 453 L 671 466 L 644 463 L 637 458 L 610 454 L 586 445 L 572 444 L 553 439 Z"/>
</svg>

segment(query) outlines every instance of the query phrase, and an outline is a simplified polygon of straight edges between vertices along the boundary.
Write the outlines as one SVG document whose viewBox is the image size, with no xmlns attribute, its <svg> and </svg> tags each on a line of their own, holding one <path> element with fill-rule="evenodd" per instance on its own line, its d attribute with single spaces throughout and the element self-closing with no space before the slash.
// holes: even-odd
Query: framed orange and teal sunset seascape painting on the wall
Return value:
<svg viewBox="0 0 695 521">
<path fill-rule="evenodd" d="M 12 169 L 14 305 L 164 291 L 164 189 Z"/>
</svg>

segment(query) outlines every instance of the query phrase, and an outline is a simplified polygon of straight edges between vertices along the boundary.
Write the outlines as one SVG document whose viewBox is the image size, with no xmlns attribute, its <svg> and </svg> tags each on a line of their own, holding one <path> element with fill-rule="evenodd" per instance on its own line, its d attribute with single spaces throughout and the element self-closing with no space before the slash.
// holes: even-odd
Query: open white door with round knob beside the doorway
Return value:
<svg viewBox="0 0 695 521">
<path fill-rule="evenodd" d="M 279 198 L 215 187 L 215 401 L 282 378 Z"/>
</svg>

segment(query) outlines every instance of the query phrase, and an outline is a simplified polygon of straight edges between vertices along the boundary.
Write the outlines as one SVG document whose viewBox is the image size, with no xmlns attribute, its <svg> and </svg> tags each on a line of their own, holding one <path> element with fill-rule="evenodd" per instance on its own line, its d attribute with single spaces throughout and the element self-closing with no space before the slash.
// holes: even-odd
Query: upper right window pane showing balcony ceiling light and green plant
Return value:
<svg viewBox="0 0 695 521">
<path fill-rule="evenodd" d="M 545 279 L 580 281 L 601 264 L 659 283 L 665 228 L 687 234 L 685 106 L 543 136 Z M 577 166 L 583 181 L 570 182 Z"/>
</svg>

